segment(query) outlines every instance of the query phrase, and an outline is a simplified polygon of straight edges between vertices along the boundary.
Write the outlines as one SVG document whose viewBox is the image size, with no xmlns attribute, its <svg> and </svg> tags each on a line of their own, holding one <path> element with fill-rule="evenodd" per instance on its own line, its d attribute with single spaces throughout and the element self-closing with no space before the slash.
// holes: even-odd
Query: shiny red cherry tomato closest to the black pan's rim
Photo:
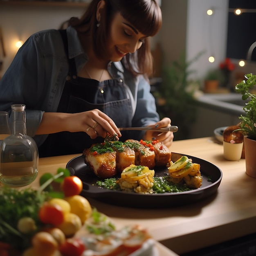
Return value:
<svg viewBox="0 0 256 256">
<path fill-rule="evenodd" d="M 61 183 L 65 196 L 79 195 L 83 189 L 83 182 L 76 176 L 65 177 Z"/>
</svg>

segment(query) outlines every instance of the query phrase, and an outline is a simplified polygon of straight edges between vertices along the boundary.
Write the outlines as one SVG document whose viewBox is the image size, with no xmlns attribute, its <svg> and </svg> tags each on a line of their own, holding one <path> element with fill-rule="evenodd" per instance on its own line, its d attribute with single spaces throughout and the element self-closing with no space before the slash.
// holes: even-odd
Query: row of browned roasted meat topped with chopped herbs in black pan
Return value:
<svg viewBox="0 0 256 256">
<path fill-rule="evenodd" d="M 153 169 L 169 166 L 171 161 L 171 152 L 162 142 L 134 139 L 94 144 L 83 150 L 83 155 L 85 163 L 101 178 L 114 177 L 131 164 Z"/>
</svg>

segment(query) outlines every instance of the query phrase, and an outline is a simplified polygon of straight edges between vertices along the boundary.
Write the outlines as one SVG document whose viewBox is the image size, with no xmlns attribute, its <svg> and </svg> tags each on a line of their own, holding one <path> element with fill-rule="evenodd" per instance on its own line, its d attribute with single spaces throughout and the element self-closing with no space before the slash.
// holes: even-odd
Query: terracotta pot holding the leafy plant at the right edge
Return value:
<svg viewBox="0 0 256 256">
<path fill-rule="evenodd" d="M 244 137 L 246 174 L 256 178 L 256 140 Z"/>
</svg>

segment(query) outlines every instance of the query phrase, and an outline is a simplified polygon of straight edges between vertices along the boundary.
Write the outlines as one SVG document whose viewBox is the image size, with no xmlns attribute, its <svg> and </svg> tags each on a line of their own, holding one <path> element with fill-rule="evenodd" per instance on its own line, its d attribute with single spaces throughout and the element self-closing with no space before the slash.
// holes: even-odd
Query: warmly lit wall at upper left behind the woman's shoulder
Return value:
<svg viewBox="0 0 256 256">
<path fill-rule="evenodd" d="M 7 70 L 18 48 L 18 40 L 25 42 L 27 38 L 40 30 L 58 29 L 62 22 L 72 16 L 80 17 L 85 9 L 81 7 L 32 7 L 32 6 L 0 6 L 0 27 L 4 37 L 7 56 L 3 59 L 0 76 Z"/>
</svg>

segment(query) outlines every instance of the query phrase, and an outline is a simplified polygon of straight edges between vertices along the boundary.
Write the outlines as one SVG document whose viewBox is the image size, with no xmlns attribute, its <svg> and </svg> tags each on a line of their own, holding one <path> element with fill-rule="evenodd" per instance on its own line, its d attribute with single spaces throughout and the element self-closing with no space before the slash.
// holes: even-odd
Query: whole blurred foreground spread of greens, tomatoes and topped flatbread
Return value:
<svg viewBox="0 0 256 256">
<path fill-rule="evenodd" d="M 116 230 L 82 189 L 63 168 L 45 173 L 38 191 L 0 187 L 0 255 L 126 256 L 150 238 L 139 227 Z"/>
</svg>

